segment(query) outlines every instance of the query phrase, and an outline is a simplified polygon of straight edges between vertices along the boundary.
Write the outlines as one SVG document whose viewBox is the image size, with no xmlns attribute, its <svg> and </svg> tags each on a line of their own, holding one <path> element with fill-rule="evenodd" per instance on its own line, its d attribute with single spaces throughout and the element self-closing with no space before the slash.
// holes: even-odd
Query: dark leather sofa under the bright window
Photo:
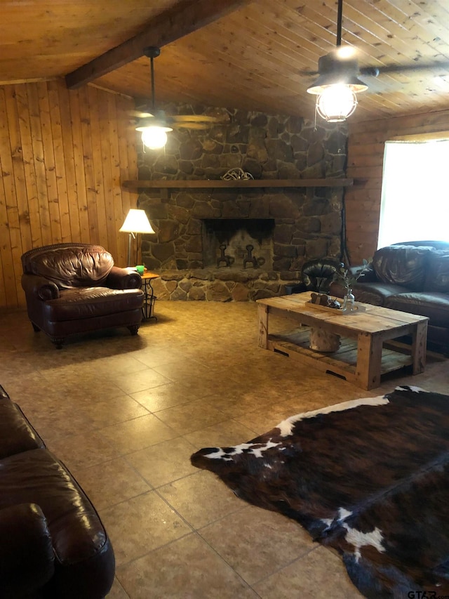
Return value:
<svg viewBox="0 0 449 599">
<path fill-rule="evenodd" d="M 344 287 L 334 282 L 330 292 L 342 297 Z M 352 293 L 356 301 L 429 317 L 428 348 L 448 352 L 448 242 L 405 242 L 378 249 L 352 286 Z"/>
</svg>

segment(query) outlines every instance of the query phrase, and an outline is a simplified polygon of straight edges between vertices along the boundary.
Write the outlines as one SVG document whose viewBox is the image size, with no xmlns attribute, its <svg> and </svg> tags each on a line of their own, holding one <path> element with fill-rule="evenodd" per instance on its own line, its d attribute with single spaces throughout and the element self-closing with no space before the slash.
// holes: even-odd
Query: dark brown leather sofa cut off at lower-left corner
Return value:
<svg viewBox="0 0 449 599">
<path fill-rule="evenodd" d="M 102 599 L 114 573 L 91 501 L 0 386 L 0 597 Z"/>
</svg>

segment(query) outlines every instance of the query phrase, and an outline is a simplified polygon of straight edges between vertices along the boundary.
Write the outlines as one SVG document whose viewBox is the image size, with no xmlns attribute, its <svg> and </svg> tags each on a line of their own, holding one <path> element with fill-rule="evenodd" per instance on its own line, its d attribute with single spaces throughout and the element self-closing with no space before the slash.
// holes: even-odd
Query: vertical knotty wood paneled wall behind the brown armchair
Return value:
<svg viewBox="0 0 449 599">
<path fill-rule="evenodd" d="M 0 86 L 0 307 L 22 307 L 20 256 L 60 242 L 98 243 L 126 264 L 119 232 L 137 178 L 130 98 L 62 81 Z"/>
</svg>

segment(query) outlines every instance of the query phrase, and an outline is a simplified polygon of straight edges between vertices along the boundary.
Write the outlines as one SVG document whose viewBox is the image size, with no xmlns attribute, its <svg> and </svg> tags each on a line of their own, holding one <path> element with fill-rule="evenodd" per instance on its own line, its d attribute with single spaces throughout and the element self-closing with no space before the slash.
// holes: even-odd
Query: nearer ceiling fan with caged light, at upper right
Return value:
<svg viewBox="0 0 449 599">
<path fill-rule="evenodd" d="M 316 112 L 326 121 L 344 121 L 354 112 L 357 105 L 356 93 L 368 90 L 368 84 L 359 77 L 378 77 L 380 74 L 435 70 L 436 68 L 449 69 L 449 61 L 413 61 L 407 65 L 359 67 L 356 48 L 342 46 L 342 13 L 343 0 L 338 0 L 336 47 L 319 58 L 317 70 L 301 71 L 301 74 L 307 76 L 318 75 L 316 81 L 307 88 L 307 92 L 317 96 Z M 335 100 L 337 96 L 340 101 L 338 106 L 337 100 Z M 332 107 L 330 107 L 331 104 Z"/>
</svg>

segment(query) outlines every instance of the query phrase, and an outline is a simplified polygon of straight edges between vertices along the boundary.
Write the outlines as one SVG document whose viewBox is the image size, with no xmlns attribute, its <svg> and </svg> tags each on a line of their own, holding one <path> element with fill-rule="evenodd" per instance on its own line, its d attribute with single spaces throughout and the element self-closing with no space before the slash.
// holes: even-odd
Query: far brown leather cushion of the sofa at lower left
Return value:
<svg viewBox="0 0 449 599">
<path fill-rule="evenodd" d="M 29 424 L 18 405 L 0 400 L 0 459 L 29 449 L 43 448 L 43 440 Z"/>
</svg>

